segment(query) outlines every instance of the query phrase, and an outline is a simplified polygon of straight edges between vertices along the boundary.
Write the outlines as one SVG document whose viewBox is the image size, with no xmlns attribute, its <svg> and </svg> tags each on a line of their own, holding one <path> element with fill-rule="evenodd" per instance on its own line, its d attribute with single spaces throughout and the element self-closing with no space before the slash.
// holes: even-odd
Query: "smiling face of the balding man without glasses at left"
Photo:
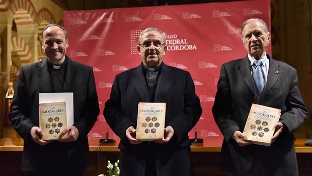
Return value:
<svg viewBox="0 0 312 176">
<path fill-rule="evenodd" d="M 65 60 L 68 40 L 58 26 L 50 26 L 43 32 L 42 49 L 53 65 L 60 65 Z"/>
</svg>

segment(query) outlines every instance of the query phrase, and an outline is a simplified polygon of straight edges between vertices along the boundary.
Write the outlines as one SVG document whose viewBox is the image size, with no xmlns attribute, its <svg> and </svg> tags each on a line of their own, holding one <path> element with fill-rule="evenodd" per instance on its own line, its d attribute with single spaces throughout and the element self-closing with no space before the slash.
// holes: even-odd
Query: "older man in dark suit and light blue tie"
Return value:
<svg viewBox="0 0 312 176">
<path fill-rule="evenodd" d="M 266 54 L 271 35 L 263 20 L 244 22 L 242 39 L 248 55 L 222 65 L 212 107 L 224 136 L 221 166 L 228 175 L 298 175 L 292 133 L 307 112 L 297 72 Z M 281 109 L 270 147 L 242 140 L 252 103 Z"/>
</svg>

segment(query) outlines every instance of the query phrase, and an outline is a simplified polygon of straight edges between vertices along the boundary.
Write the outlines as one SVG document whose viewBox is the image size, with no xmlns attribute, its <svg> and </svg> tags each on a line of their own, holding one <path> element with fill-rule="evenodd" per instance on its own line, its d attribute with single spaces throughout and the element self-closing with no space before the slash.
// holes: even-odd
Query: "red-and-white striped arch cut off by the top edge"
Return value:
<svg viewBox="0 0 312 176">
<path fill-rule="evenodd" d="M 30 0 L 13 0 L 10 9 L 16 25 L 35 23 L 37 14 Z"/>
</svg>

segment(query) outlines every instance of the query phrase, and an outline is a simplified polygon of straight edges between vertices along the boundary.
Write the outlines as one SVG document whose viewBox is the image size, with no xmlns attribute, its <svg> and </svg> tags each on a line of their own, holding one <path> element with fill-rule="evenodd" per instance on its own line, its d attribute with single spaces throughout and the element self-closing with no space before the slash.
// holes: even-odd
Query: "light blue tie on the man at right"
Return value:
<svg viewBox="0 0 312 176">
<path fill-rule="evenodd" d="M 261 72 L 261 66 L 262 66 L 262 62 L 260 60 L 256 60 L 253 64 L 253 66 L 255 67 L 255 71 L 254 71 L 254 83 L 256 86 L 256 91 L 257 91 L 257 95 L 258 95 L 258 99 L 261 98 L 262 92 L 263 92 L 263 75 Z"/>
</svg>

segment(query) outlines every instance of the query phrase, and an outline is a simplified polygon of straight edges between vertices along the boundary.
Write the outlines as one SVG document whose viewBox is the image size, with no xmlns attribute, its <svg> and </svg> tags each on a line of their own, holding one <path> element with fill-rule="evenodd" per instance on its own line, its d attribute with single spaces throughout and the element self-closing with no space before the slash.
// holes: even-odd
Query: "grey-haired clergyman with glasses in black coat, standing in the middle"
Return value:
<svg viewBox="0 0 312 176">
<path fill-rule="evenodd" d="M 146 28 L 138 39 L 142 63 L 118 74 L 104 116 L 120 137 L 121 175 L 193 175 L 188 132 L 201 115 L 189 72 L 167 66 L 165 33 Z M 166 102 L 165 138 L 135 139 L 139 102 Z"/>
</svg>

